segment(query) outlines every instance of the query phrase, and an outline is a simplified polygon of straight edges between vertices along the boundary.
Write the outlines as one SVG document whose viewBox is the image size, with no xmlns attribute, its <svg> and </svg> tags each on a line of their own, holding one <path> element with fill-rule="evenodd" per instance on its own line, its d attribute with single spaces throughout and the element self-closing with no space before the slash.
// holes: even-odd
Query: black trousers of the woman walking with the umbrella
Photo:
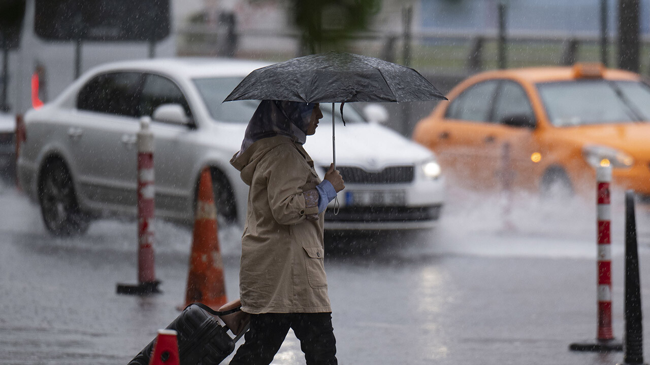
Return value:
<svg viewBox="0 0 650 365">
<path fill-rule="evenodd" d="M 293 329 L 307 365 L 337 365 L 331 313 L 263 313 L 250 316 L 250 329 L 230 365 L 268 365 Z"/>
</svg>

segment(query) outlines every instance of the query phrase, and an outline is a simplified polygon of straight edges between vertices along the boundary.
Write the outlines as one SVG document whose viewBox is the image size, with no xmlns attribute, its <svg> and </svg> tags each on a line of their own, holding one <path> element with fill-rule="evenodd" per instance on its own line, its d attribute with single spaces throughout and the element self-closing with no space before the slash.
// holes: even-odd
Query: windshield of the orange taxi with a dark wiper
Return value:
<svg viewBox="0 0 650 365">
<path fill-rule="evenodd" d="M 638 81 L 581 80 L 538 85 L 558 127 L 650 120 L 650 87 Z"/>
</svg>

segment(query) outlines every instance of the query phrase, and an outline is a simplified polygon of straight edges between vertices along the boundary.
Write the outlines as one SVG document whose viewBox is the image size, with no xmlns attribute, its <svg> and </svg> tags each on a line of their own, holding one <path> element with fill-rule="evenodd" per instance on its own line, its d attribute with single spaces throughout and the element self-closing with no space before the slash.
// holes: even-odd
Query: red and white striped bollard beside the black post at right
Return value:
<svg viewBox="0 0 650 365">
<path fill-rule="evenodd" d="M 596 219 L 598 229 L 597 336 L 595 343 L 571 344 L 569 349 L 575 351 L 623 351 L 623 344 L 616 342 L 612 333 L 611 166 L 599 166 L 596 169 L 596 183 Z"/>
</svg>

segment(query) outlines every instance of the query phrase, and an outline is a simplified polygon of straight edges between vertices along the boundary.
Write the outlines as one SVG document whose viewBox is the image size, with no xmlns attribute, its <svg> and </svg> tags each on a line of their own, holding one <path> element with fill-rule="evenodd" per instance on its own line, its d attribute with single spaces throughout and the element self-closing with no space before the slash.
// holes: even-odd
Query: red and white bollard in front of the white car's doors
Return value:
<svg viewBox="0 0 650 365">
<path fill-rule="evenodd" d="M 138 284 L 118 285 L 118 294 L 158 293 L 153 255 L 153 219 L 155 208 L 155 179 L 153 173 L 153 133 L 151 118 L 140 119 L 138 131 Z"/>
</svg>

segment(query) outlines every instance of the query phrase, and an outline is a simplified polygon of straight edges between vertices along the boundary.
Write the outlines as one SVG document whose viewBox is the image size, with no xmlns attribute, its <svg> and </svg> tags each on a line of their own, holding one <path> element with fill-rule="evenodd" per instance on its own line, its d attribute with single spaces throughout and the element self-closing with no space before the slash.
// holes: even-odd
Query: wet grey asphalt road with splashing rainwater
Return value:
<svg viewBox="0 0 650 365">
<path fill-rule="evenodd" d="M 522 204 L 512 213 L 514 229 L 504 231 L 494 201 L 476 204 L 466 194 L 450 199 L 464 203 L 450 203 L 426 236 L 334 237 L 354 246 L 330 249 L 326 260 L 340 364 L 623 361 L 622 353 L 567 349 L 595 337 L 593 209 L 575 202 Z M 613 320 L 621 339 L 623 208 L 613 211 Z M 638 218 L 648 312 L 649 220 Z M 190 233 L 162 222 L 156 230 L 164 293 L 119 296 L 117 283 L 136 281 L 135 224 L 100 221 L 81 238 L 51 238 L 36 206 L 0 188 L 0 364 L 126 364 L 184 300 Z M 239 234 L 222 230 L 220 236 L 233 299 Z M 292 333 L 273 364 L 304 364 Z"/>
</svg>

